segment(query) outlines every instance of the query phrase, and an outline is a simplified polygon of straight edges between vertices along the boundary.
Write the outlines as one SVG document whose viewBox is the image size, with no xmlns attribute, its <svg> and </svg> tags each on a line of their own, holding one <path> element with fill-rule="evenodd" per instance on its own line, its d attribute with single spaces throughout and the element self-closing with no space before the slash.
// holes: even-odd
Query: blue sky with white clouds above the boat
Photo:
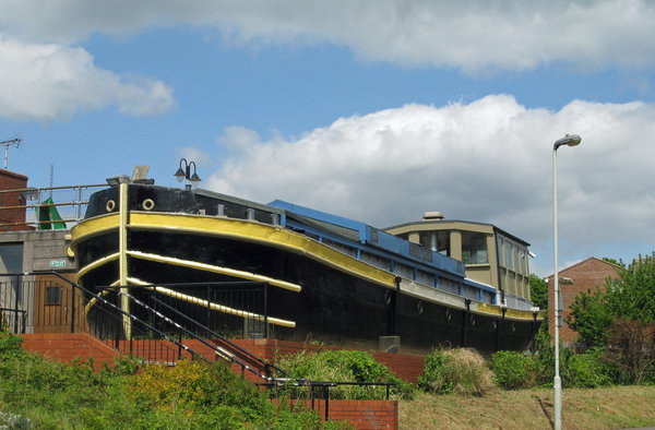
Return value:
<svg viewBox="0 0 655 430">
<path fill-rule="evenodd" d="M 553 272 L 655 250 L 655 3 L 0 0 L 0 141 L 31 187 L 148 165 L 383 228 L 493 224 Z"/>
</svg>

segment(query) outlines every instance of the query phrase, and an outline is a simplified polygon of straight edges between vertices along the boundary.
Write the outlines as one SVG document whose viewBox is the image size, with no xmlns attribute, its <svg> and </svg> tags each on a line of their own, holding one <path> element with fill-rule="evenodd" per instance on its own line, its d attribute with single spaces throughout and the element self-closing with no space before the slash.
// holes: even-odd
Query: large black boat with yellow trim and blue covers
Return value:
<svg viewBox="0 0 655 430">
<path fill-rule="evenodd" d="M 487 259 L 485 267 L 477 260 L 473 267 L 466 264 L 473 254 L 456 259 L 450 248 L 444 252 L 433 239 L 446 224 L 424 220 L 384 230 L 281 200 L 262 204 L 126 176 L 108 182 L 91 195 L 84 219 L 71 229 L 76 282 L 90 290 L 109 296 L 110 288 L 158 288 L 187 303 L 192 318 L 229 316 L 222 320 L 224 329 L 258 322 L 245 335 L 408 354 L 441 346 L 525 350 L 544 321 L 545 312 L 533 307 L 529 288 L 508 264 Z M 418 227 L 425 227 L 428 242 L 421 243 Z M 479 230 L 475 223 L 454 227 L 451 231 Z M 499 236 L 485 239 L 488 243 L 502 249 L 507 240 L 521 255 L 527 252 L 526 242 L 491 230 Z M 475 258 L 483 256 L 476 250 Z M 523 279 L 527 260 L 520 264 L 515 273 Z M 485 271 L 492 276 L 483 276 Z M 491 277 L 504 279 L 507 288 Z M 182 287 L 209 291 L 239 283 L 265 285 L 264 308 Z"/>
</svg>

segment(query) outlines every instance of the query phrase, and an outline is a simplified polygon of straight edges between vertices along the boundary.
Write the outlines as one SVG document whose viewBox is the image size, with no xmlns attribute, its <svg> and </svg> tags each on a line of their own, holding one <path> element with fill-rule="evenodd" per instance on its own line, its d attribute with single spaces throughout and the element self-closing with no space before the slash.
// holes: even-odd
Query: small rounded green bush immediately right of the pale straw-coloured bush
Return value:
<svg viewBox="0 0 655 430">
<path fill-rule="evenodd" d="M 491 356 L 491 370 L 496 382 L 504 390 L 517 390 L 534 385 L 532 357 L 519 351 L 501 350 Z"/>
</svg>

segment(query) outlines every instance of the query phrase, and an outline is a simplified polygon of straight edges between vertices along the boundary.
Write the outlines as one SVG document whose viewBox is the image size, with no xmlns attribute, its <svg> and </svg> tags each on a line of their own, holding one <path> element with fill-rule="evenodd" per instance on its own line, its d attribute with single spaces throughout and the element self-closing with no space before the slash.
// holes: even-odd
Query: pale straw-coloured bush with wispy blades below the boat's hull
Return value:
<svg viewBox="0 0 655 430">
<path fill-rule="evenodd" d="M 426 356 L 418 385 L 439 394 L 483 396 L 495 389 L 493 373 L 472 349 L 439 349 Z"/>
</svg>

